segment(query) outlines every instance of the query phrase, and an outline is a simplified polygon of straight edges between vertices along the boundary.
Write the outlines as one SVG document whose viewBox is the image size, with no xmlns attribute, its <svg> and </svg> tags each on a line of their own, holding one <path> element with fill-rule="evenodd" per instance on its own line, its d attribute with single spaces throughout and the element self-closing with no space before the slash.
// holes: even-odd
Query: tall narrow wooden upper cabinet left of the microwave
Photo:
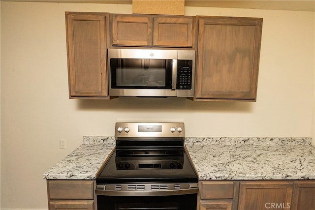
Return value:
<svg viewBox="0 0 315 210">
<path fill-rule="evenodd" d="M 70 98 L 108 97 L 108 13 L 65 12 Z"/>
</svg>

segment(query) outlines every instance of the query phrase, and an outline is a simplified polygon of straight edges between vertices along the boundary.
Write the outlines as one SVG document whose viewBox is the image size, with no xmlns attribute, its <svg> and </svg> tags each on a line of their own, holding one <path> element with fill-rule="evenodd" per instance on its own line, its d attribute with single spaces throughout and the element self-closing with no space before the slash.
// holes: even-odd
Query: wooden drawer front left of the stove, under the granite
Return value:
<svg viewBox="0 0 315 210">
<path fill-rule="evenodd" d="M 48 180 L 50 199 L 94 199 L 94 181 Z"/>
</svg>

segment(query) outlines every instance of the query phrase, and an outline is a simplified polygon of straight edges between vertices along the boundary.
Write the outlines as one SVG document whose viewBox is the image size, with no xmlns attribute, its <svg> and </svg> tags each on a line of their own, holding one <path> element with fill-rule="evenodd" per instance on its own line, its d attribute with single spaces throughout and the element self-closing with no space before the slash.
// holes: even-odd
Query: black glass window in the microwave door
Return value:
<svg viewBox="0 0 315 210">
<path fill-rule="evenodd" d="M 112 89 L 171 89 L 172 60 L 111 59 Z"/>
</svg>

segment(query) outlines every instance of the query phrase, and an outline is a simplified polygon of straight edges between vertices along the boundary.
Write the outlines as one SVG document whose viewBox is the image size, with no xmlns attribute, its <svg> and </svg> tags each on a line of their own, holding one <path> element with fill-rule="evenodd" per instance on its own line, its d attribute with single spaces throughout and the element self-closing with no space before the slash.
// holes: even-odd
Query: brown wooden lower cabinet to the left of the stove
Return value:
<svg viewBox="0 0 315 210">
<path fill-rule="evenodd" d="M 49 210 L 96 210 L 95 180 L 47 180 Z"/>
</svg>

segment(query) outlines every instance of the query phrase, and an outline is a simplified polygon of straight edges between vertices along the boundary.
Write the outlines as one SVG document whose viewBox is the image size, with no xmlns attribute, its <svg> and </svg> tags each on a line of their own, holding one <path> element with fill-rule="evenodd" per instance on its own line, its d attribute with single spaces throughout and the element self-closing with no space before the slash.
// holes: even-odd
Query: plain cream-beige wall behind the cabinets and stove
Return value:
<svg viewBox="0 0 315 210">
<path fill-rule="evenodd" d="M 131 5 L 0 6 L 1 209 L 47 208 L 42 174 L 83 135 L 113 136 L 116 121 L 184 121 L 191 137 L 314 137 L 314 12 L 185 8 L 186 15 L 264 18 L 257 102 L 95 101 L 68 99 L 64 11 L 131 13 Z"/>
</svg>

